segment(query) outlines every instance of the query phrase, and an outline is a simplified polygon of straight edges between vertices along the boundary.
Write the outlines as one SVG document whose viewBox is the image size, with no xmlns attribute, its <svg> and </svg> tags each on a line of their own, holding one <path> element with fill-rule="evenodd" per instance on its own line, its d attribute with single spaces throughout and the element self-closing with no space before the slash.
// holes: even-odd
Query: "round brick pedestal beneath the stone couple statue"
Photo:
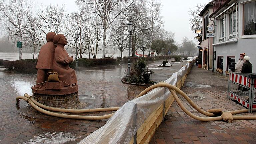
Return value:
<svg viewBox="0 0 256 144">
<path fill-rule="evenodd" d="M 55 108 L 72 109 L 79 106 L 78 92 L 67 95 L 34 94 L 34 99 L 44 105 Z"/>
</svg>

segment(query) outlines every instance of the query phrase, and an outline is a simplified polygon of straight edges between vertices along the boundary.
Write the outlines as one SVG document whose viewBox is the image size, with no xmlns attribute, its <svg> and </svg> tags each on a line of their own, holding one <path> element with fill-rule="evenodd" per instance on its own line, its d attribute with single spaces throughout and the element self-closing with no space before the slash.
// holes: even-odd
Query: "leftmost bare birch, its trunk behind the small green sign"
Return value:
<svg viewBox="0 0 256 144">
<path fill-rule="evenodd" d="M 30 5 L 27 0 L 10 0 L 8 4 L 4 0 L 0 0 L 0 14 L 4 28 L 6 28 L 10 35 L 18 36 L 21 42 L 23 40 L 24 28 L 27 25 L 24 17 Z M 22 48 L 20 48 L 19 60 L 21 58 Z"/>
</svg>

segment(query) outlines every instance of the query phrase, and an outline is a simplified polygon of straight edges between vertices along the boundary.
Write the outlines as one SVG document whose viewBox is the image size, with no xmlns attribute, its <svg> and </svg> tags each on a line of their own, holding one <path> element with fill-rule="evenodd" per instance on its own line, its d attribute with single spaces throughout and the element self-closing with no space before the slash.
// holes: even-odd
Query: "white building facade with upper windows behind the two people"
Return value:
<svg viewBox="0 0 256 144">
<path fill-rule="evenodd" d="M 245 53 L 256 73 L 256 0 L 227 0 L 210 17 L 215 21 L 214 71 L 234 71 Z"/>
</svg>

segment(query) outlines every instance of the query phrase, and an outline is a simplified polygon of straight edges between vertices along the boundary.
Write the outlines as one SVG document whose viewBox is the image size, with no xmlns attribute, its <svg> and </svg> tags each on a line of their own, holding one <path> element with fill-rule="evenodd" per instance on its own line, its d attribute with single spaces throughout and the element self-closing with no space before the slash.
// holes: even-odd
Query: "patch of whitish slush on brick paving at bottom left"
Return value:
<svg viewBox="0 0 256 144">
<path fill-rule="evenodd" d="M 23 144 L 64 144 L 68 141 L 77 139 L 73 133 L 56 133 L 48 132 L 42 135 L 34 136 L 32 139 L 24 142 Z"/>
</svg>

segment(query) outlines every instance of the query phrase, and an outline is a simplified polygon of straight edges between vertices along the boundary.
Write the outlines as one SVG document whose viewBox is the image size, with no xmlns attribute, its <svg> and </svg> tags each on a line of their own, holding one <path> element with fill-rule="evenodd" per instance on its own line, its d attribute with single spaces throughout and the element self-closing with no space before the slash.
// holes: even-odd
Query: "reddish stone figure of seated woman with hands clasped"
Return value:
<svg viewBox="0 0 256 144">
<path fill-rule="evenodd" d="M 53 38 L 53 43 L 57 45 L 54 51 L 53 71 L 59 74 L 59 80 L 64 81 L 64 86 L 77 83 L 75 70 L 69 67 L 74 59 L 69 56 L 64 46 L 67 39 L 63 34 L 57 34 Z"/>
</svg>

